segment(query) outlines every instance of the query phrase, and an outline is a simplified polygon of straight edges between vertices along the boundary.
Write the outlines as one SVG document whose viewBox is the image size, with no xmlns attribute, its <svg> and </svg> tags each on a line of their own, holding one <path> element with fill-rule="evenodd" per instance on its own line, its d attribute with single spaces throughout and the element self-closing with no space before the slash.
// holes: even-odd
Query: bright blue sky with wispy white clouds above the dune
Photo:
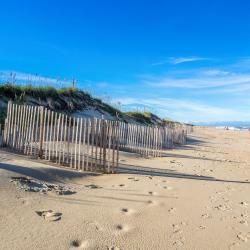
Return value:
<svg viewBox="0 0 250 250">
<path fill-rule="evenodd" d="M 0 77 L 76 78 L 124 110 L 250 121 L 249 9 L 247 0 L 1 1 Z"/>
</svg>

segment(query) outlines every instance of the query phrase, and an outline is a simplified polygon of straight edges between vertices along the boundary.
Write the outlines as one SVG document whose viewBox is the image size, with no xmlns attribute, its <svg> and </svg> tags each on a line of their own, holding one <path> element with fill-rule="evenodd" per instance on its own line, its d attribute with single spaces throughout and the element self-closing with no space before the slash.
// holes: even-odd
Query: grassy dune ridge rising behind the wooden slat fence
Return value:
<svg viewBox="0 0 250 250">
<path fill-rule="evenodd" d="M 120 119 L 134 120 L 141 124 L 169 124 L 174 123 L 170 119 L 160 119 L 151 112 L 122 112 L 117 108 L 94 98 L 90 94 L 77 88 L 34 87 L 31 85 L 21 86 L 10 83 L 0 84 L 0 123 L 4 123 L 6 108 L 9 100 L 16 103 L 32 105 L 43 105 L 54 111 L 65 113 L 83 111 L 88 107 L 106 112 L 111 116 L 118 116 Z"/>
</svg>

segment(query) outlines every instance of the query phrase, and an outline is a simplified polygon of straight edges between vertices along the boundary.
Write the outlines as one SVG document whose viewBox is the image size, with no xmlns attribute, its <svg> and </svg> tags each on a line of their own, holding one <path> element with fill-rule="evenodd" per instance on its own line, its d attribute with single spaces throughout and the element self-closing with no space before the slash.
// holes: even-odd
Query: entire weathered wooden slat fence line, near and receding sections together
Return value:
<svg viewBox="0 0 250 250">
<path fill-rule="evenodd" d="M 82 171 L 115 173 L 119 150 L 160 157 L 186 143 L 192 126 L 143 126 L 96 118 L 76 118 L 43 106 L 8 103 L 0 145 Z"/>
</svg>

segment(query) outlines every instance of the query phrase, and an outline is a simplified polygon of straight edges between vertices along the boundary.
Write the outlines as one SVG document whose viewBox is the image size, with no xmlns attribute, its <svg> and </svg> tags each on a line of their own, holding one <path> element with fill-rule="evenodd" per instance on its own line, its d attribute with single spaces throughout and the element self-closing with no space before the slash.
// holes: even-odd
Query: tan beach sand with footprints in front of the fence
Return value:
<svg viewBox="0 0 250 250">
<path fill-rule="evenodd" d="M 195 128 L 164 154 L 97 175 L 0 150 L 0 249 L 250 249 L 250 133 Z"/>
</svg>

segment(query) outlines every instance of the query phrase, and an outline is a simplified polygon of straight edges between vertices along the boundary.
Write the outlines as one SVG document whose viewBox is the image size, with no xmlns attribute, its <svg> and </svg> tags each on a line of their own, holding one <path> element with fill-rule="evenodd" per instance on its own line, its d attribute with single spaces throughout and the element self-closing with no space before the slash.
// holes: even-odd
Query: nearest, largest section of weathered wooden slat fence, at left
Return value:
<svg viewBox="0 0 250 250">
<path fill-rule="evenodd" d="M 119 162 L 117 122 L 42 106 L 9 102 L 3 141 L 15 151 L 78 170 L 115 173 Z"/>
</svg>

